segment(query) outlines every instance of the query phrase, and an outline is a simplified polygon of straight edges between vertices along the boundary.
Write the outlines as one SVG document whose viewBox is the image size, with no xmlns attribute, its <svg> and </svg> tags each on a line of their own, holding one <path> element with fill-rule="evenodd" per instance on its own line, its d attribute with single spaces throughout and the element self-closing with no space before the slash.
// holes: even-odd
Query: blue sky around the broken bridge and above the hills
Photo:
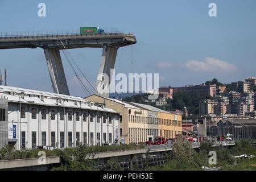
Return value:
<svg viewBox="0 0 256 182">
<path fill-rule="evenodd" d="M 46 17 L 38 4 L 46 3 Z M 209 3 L 217 17 L 208 15 Z M 256 1 L 0 1 L 0 32 L 67 30 L 86 26 L 132 32 L 138 43 L 121 48 L 116 72 L 160 73 L 160 86 L 221 82 L 256 76 Z M 69 50 L 93 83 L 101 49 Z M 52 91 L 43 49 L 0 50 L 9 85 Z M 133 68 L 131 68 L 133 61 Z M 72 95 L 84 96 L 63 56 Z"/>
</svg>

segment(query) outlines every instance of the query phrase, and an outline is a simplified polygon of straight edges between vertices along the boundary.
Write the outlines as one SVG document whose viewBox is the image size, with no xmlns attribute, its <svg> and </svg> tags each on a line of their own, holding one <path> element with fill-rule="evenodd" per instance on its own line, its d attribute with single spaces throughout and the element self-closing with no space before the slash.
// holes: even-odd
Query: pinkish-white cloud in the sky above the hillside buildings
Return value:
<svg viewBox="0 0 256 182">
<path fill-rule="evenodd" d="M 192 72 L 234 72 L 237 66 L 215 59 L 213 57 L 205 57 L 204 61 L 189 60 L 183 67 Z"/>
</svg>

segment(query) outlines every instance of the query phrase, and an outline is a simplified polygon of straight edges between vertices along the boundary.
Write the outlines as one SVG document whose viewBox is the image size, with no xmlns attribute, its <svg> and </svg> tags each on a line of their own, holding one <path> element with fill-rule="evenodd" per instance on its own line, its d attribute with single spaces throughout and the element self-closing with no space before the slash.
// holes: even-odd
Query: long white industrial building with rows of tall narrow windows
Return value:
<svg viewBox="0 0 256 182">
<path fill-rule="evenodd" d="M 0 86 L 0 98 L 8 101 L 8 143 L 18 150 L 119 142 L 119 114 L 104 103 L 10 86 Z"/>
</svg>

